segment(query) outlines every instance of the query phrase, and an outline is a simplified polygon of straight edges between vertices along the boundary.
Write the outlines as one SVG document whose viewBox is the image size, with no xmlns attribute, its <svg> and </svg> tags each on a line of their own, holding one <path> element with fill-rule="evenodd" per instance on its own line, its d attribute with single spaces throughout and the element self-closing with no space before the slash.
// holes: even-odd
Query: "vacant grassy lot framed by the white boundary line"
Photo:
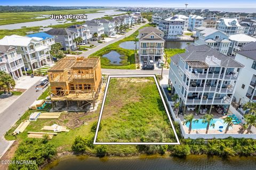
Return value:
<svg viewBox="0 0 256 170">
<path fill-rule="evenodd" d="M 98 142 L 176 142 L 154 78 L 111 78 Z"/>
</svg>

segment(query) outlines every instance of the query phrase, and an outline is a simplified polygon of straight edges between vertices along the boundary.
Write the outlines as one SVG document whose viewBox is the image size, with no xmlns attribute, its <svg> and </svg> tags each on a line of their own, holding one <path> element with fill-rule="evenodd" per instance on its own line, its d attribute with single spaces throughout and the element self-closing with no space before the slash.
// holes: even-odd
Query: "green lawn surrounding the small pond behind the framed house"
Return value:
<svg viewBox="0 0 256 170">
<path fill-rule="evenodd" d="M 139 29 L 142 29 L 143 27 L 149 27 L 150 24 L 143 25 Z M 131 49 L 124 49 L 119 47 L 119 44 L 125 42 L 125 41 L 135 41 L 137 39 L 137 36 L 139 35 L 139 31 L 135 31 L 131 36 L 125 37 L 122 40 L 117 41 L 116 43 L 110 44 L 107 47 L 104 47 L 97 52 L 91 54 L 90 56 L 99 56 L 101 57 L 101 67 L 102 69 L 129 69 L 129 70 L 135 70 L 135 57 L 134 57 L 134 50 Z M 122 59 L 122 65 L 116 65 L 111 64 L 110 60 L 106 57 L 102 57 L 104 54 L 107 54 L 111 52 L 112 50 L 116 51 L 117 53 L 121 54 Z"/>
</svg>

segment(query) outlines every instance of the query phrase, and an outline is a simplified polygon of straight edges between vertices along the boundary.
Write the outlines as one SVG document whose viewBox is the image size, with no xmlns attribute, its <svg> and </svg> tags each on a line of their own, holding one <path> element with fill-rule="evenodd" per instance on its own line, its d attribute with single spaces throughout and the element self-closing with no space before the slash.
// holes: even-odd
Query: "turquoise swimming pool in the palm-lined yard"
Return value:
<svg viewBox="0 0 256 170">
<path fill-rule="evenodd" d="M 196 130 L 196 129 L 206 129 L 207 124 L 203 124 L 202 119 L 198 119 L 198 123 L 192 123 L 192 129 Z M 220 126 L 223 126 L 223 129 L 226 129 L 227 124 L 224 123 L 224 120 L 221 118 L 213 118 L 212 122 L 214 123 L 215 126 L 214 128 L 212 126 L 210 126 L 209 130 L 219 130 Z M 186 126 L 189 128 L 189 123 L 186 124 Z M 232 129 L 231 127 L 229 127 L 229 129 Z"/>
</svg>

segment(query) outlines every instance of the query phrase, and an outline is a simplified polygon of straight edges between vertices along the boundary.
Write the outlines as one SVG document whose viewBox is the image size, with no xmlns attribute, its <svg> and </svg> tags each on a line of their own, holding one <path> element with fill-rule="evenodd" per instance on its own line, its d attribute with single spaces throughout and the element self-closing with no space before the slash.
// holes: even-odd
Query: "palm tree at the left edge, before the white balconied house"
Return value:
<svg viewBox="0 0 256 170">
<path fill-rule="evenodd" d="M 0 86 L 4 89 L 4 93 L 8 90 L 8 94 L 10 94 L 10 89 L 14 88 L 16 85 L 15 80 L 11 77 L 11 75 L 0 71 Z"/>
</svg>

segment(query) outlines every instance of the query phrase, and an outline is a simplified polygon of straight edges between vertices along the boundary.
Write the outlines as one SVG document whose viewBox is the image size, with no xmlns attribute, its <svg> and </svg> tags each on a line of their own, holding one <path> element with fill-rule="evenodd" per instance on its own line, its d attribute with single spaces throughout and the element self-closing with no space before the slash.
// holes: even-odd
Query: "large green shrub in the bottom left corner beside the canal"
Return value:
<svg viewBox="0 0 256 170">
<path fill-rule="evenodd" d="M 56 148 L 50 143 L 43 143 L 42 139 L 26 139 L 20 143 L 12 160 L 30 164 L 11 164 L 9 169 L 38 169 L 45 160 L 50 160 L 56 154 Z"/>
</svg>

